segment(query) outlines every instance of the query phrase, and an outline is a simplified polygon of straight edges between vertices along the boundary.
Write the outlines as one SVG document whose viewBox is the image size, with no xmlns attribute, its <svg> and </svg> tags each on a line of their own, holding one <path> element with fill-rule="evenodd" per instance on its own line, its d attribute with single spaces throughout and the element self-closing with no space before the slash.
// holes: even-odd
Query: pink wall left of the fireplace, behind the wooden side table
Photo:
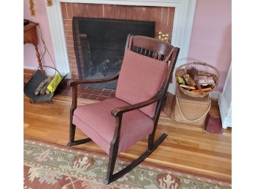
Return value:
<svg viewBox="0 0 256 189">
<path fill-rule="evenodd" d="M 54 59 L 54 49 L 51 43 L 51 34 L 49 30 L 49 22 L 46 13 L 46 2 L 42 0 L 35 0 L 35 16 L 30 15 L 29 12 L 29 0 L 24 0 L 24 19 L 29 21 L 33 21 L 35 23 L 39 23 L 41 32 L 43 34 L 43 40 L 46 43 L 47 48 L 51 54 L 51 57 Z M 38 49 L 41 54 L 43 55 L 43 42 L 40 39 L 40 32 L 38 29 L 38 36 L 39 36 L 39 45 Z M 46 51 L 46 54 L 42 60 L 43 65 L 50 65 L 52 66 L 51 58 Z M 35 55 L 35 47 L 31 43 L 26 43 L 24 45 L 24 66 L 28 67 L 37 67 L 38 66 L 38 58 Z"/>
</svg>

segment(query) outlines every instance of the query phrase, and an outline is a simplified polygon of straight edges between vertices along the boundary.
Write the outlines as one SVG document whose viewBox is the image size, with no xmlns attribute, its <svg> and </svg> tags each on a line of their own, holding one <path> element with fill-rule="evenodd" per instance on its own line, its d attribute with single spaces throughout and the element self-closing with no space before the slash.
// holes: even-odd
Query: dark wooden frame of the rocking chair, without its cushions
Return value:
<svg viewBox="0 0 256 189">
<path fill-rule="evenodd" d="M 130 39 L 130 35 L 128 35 L 127 37 L 127 43 L 125 47 L 126 50 L 129 45 L 129 39 Z M 157 39 L 147 38 L 144 36 L 133 36 L 131 50 L 139 54 L 152 57 L 157 60 L 162 60 L 166 64 L 168 64 L 168 68 L 166 70 L 166 76 L 165 76 L 165 80 L 163 82 L 162 88 L 160 88 L 159 92 L 152 99 L 141 101 L 137 104 L 131 104 L 126 107 L 117 107 L 112 110 L 111 114 L 115 118 L 115 132 L 114 132 L 113 140 L 111 141 L 111 144 L 110 144 L 110 153 L 109 153 L 110 155 L 109 155 L 109 160 L 107 165 L 108 166 L 107 177 L 106 179 L 104 179 L 105 185 L 115 181 L 121 176 L 124 176 L 124 174 L 127 174 L 129 171 L 135 168 L 139 163 L 145 160 L 146 157 L 149 156 L 149 154 L 152 154 L 154 149 L 157 149 L 157 146 L 159 146 L 160 143 L 162 143 L 163 140 L 165 140 L 165 138 L 167 137 L 167 135 L 164 133 L 163 135 L 160 136 L 160 138 L 158 138 L 157 140 L 154 140 L 154 135 L 157 129 L 157 122 L 160 116 L 160 111 L 166 99 L 166 92 L 168 90 L 168 85 L 171 80 L 172 73 L 174 71 L 174 65 L 177 61 L 179 48 L 171 46 L 171 44 L 157 40 Z M 77 85 L 110 82 L 115 79 L 118 79 L 118 75 L 119 74 L 105 78 L 105 79 L 90 79 L 90 80 L 71 79 L 70 81 L 68 81 L 68 85 L 71 86 L 72 88 L 72 104 L 71 104 L 71 110 L 70 110 L 70 136 L 69 136 L 69 142 L 67 144 L 68 146 L 75 146 L 83 143 L 88 143 L 91 141 L 90 138 L 85 138 L 82 140 L 74 140 L 76 126 L 72 123 L 72 119 L 74 115 L 74 110 L 77 108 Z M 134 160 L 131 164 L 127 165 L 126 168 L 113 174 L 113 171 L 115 168 L 115 161 L 118 155 L 118 144 L 119 144 L 119 137 L 121 132 L 122 115 L 129 111 L 138 110 L 142 107 L 146 107 L 149 104 L 153 104 L 155 102 L 157 103 L 157 106 L 156 106 L 154 117 L 152 118 L 152 120 L 154 121 L 154 129 L 148 137 L 147 150 L 140 157 L 138 157 L 137 160 Z"/>
</svg>

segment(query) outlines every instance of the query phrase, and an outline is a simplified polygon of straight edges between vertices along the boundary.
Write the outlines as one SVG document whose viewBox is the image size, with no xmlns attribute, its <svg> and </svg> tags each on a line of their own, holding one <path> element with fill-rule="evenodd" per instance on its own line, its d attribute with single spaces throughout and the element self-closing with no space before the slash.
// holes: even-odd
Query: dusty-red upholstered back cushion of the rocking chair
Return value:
<svg viewBox="0 0 256 189">
<path fill-rule="evenodd" d="M 163 85 L 166 68 L 166 63 L 128 49 L 124 53 L 115 97 L 129 104 L 152 98 Z M 156 103 L 140 110 L 152 118 L 155 107 Z"/>
</svg>

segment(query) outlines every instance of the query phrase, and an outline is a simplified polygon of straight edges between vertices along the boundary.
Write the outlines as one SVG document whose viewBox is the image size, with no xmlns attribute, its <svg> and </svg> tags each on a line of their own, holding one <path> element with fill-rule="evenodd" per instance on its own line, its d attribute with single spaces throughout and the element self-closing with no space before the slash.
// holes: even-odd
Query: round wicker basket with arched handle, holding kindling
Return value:
<svg viewBox="0 0 256 189">
<path fill-rule="evenodd" d="M 206 71 L 198 71 L 198 76 L 212 76 L 213 77 L 213 80 L 216 84 L 216 86 L 214 88 L 217 87 L 218 85 L 218 79 L 219 79 L 219 74 L 218 74 L 218 70 L 213 67 L 213 65 L 209 65 L 207 63 L 187 63 L 187 64 L 184 64 L 184 65 L 180 65 L 177 70 L 176 70 L 176 73 L 175 73 L 175 77 L 177 78 L 177 76 L 183 76 L 184 74 L 187 74 L 187 70 L 188 68 L 190 68 L 190 66 L 199 66 L 199 65 L 204 65 L 206 66 L 207 68 L 211 68 L 211 70 L 213 70 L 215 73 L 209 73 L 209 72 L 206 72 Z M 176 82 L 177 82 L 177 79 L 176 79 Z M 179 83 L 177 82 L 177 85 L 179 86 Z M 186 90 L 185 88 L 182 88 L 182 87 L 179 87 L 179 90 L 182 91 L 182 93 L 184 93 L 185 95 L 188 95 L 188 96 L 191 96 L 191 97 L 196 97 L 196 98 L 203 98 L 205 96 L 207 96 L 207 94 L 210 93 L 210 91 L 207 91 L 207 92 L 202 92 L 202 94 L 200 93 L 195 93 L 193 92 L 193 90 Z"/>
</svg>

